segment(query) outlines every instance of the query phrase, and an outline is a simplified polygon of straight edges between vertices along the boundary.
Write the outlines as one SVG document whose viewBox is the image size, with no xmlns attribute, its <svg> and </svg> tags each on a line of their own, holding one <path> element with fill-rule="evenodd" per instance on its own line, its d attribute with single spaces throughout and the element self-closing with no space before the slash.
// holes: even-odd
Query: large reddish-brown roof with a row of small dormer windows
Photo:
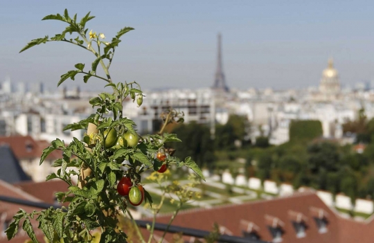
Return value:
<svg viewBox="0 0 374 243">
<path fill-rule="evenodd" d="M 320 216 L 328 221 L 326 233 L 319 233 L 314 219 Z M 157 222 L 167 224 L 170 217 L 158 217 Z M 305 237 L 296 236 L 293 222 L 299 219 L 306 225 Z M 255 225 L 260 240 L 269 242 L 272 240 L 269 226 L 274 226 L 274 222 L 281 227 L 283 242 L 287 243 L 369 243 L 374 239 L 374 221 L 356 222 L 344 219 L 323 204 L 314 192 L 300 192 L 290 197 L 240 205 L 186 210 L 175 217 L 172 225 L 212 231 L 213 224 L 217 223 L 226 227 L 233 235 L 243 237 L 243 222 Z"/>
</svg>

